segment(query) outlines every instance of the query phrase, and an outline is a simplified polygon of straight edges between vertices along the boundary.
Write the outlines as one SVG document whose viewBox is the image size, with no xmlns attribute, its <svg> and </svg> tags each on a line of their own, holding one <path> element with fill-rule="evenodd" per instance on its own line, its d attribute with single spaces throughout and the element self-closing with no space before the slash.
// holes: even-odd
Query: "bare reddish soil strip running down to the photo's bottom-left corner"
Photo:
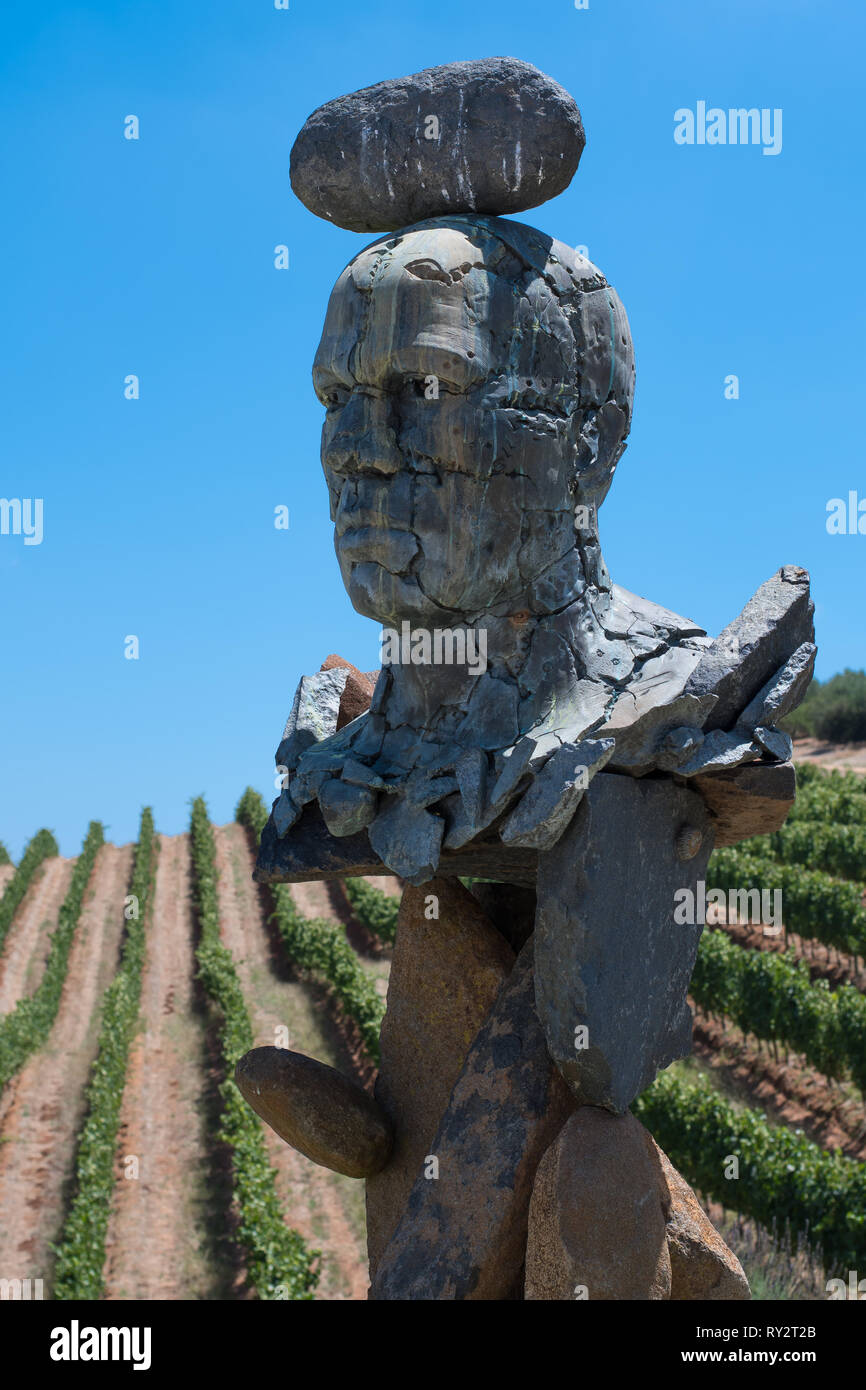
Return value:
<svg viewBox="0 0 866 1390">
<path fill-rule="evenodd" d="M 46 865 L 51 881 L 60 867 L 71 872 L 70 862 Z M 131 872 L 131 847 L 100 848 L 54 1027 L 0 1099 L 0 1269 L 7 1277 L 49 1283 L 50 1241 L 60 1234 L 71 1195 L 83 1091 L 96 1055 L 101 997 L 118 963 Z M 38 922 L 39 913 L 31 920 Z"/>
</svg>

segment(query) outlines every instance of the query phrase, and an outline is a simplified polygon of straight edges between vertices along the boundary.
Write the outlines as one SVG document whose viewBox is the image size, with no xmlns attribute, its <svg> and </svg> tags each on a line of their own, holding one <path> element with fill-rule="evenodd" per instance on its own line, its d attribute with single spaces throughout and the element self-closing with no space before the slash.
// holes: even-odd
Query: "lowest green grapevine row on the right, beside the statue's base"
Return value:
<svg viewBox="0 0 866 1390">
<path fill-rule="evenodd" d="M 780 1234 L 802 1236 L 828 1270 L 863 1268 L 865 1163 L 770 1125 L 762 1111 L 735 1108 L 706 1079 L 663 1072 L 632 1109 L 692 1187 Z"/>
</svg>

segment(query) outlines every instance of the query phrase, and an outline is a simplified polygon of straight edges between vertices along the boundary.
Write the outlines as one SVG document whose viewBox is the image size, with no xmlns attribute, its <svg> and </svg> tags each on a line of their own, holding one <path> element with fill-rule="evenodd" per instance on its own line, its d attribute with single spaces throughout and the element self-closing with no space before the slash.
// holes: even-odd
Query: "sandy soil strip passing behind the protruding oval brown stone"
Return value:
<svg viewBox="0 0 866 1390">
<path fill-rule="evenodd" d="M 217 867 L 220 873 L 220 924 L 222 941 L 235 958 L 243 997 L 253 1022 L 257 1045 L 274 1045 L 278 1030 L 289 1030 L 288 1045 L 306 1051 L 296 1031 L 299 986 L 279 979 L 265 923 L 261 897 L 253 884 L 254 856 L 246 831 L 236 824 L 214 827 Z M 321 884 L 304 884 L 307 890 L 321 890 Z M 310 916 L 329 916 L 327 902 L 316 892 L 302 895 L 303 910 Z M 316 908 L 310 903 L 316 902 Z M 300 903 L 299 903 L 300 906 Z M 307 1055 L 321 1055 L 314 1038 Z M 367 1264 L 357 1226 L 346 1212 L 348 1187 L 352 1179 L 339 1177 L 320 1168 L 296 1150 L 289 1148 L 270 1127 L 263 1126 L 271 1163 L 277 1173 L 277 1190 L 288 1225 L 322 1254 L 322 1279 L 318 1298 L 363 1300 L 367 1295 Z M 356 1187 L 360 1184 L 354 1183 Z M 327 1276 L 327 1277 L 325 1277 Z"/>
</svg>

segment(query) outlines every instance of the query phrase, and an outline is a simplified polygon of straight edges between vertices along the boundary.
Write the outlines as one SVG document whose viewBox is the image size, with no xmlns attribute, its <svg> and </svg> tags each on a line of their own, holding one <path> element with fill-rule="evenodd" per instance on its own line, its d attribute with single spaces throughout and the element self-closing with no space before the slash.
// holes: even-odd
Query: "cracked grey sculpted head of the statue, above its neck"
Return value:
<svg viewBox="0 0 866 1390">
<path fill-rule="evenodd" d="M 442 626 L 577 596 L 598 542 L 575 506 L 605 496 L 634 379 L 594 265 L 496 218 L 384 238 L 336 282 L 313 379 L 360 613 Z"/>
</svg>

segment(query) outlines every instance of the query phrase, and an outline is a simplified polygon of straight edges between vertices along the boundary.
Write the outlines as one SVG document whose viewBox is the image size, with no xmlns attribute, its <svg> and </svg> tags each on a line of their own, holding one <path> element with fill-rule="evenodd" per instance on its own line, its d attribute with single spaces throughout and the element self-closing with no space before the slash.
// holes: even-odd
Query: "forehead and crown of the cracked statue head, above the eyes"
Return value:
<svg viewBox="0 0 866 1390">
<path fill-rule="evenodd" d="M 612 396 L 630 413 L 626 313 L 595 265 L 532 228 L 421 224 L 368 246 L 342 272 L 313 377 L 324 396 L 334 384 L 388 391 L 430 374 L 460 392 L 506 379 L 584 406 Z"/>
</svg>

